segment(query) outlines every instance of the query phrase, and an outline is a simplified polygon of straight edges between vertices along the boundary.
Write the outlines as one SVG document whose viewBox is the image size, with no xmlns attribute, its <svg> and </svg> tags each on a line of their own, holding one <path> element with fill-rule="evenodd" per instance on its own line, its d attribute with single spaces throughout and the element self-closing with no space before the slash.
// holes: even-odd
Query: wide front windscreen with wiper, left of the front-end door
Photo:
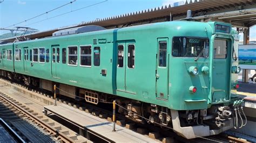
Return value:
<svg viewBox="0 0 256 143">
<path fill-rule="evenodd" d="M 209 40 L 205 38 L 174 37 L 172 55 L 179 57 L 208 57 Z"/>
</svg>

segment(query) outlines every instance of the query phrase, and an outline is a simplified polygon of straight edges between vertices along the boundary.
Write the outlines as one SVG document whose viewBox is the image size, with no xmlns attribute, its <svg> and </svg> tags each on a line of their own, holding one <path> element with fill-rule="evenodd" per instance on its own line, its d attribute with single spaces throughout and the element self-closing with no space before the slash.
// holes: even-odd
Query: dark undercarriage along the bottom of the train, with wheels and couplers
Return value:
<svg viewBox="0 0 256 143">
<path fill-rule="evenodd" d="M 235 101 L 233 105 L 217 104 L 212 105 L 209 109 L 177 111 L 156 104 L 134 101 L 10 71 L 1 70 L 1 75 L 10 80 L 22 82 L 29 87 L 37 87 L 52 92 L 53 85 L 57 85 L 58 94 L 81 102 L 85 100 L 91 104 L 99 104 L 100 102 L 116 101 L 118 104 L 117 112 L 120 115 L 142 124 L 153 124 L 166 129 L 173 129 L 174 132 L 187 139 L 219 134 L 234 126 L 238 127 L 238 113 L 240 117 L 243 113 L 242 101 L 239 100 Z M 242 126 L 244 125 L 239 127 Z"/>
</svg>

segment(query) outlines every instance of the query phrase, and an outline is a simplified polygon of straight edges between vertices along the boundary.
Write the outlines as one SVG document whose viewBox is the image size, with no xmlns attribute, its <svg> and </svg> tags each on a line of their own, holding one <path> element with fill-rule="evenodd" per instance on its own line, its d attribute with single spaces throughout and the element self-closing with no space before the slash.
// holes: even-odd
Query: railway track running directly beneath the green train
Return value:
<svg viewBox="0 0 256 143">
<path fill-rule="evenodd" d="M 6 80 L 6 79 L 4 81 L 9 82 L 9 83 L 11 82 L 11 81 Z M 26 87 L 22 84 L 18 84 L 18 83 L 14 83 L 14 84 L 18 85 L 21 88 L 29 89 L 29 87 Z M 17 90 L 17 88 L 16 88 L 16 90 Z M 45 90 L 42 90 L 42 89 L 35 89 L 35 88 L 30 89 L 30 90 L 32 92 L 34 92 L 35 94 L 40 94 L 41 96 L 48 97 L 49 100 L 53 99 L 53 96 L 51 95 L 51 93 L 49 91 L 45 91 Z M 83 110 L 87 113 L 91 113 L 91 115 L 97 116 L 99 118 L 105 118 L 109 121 L 112 121 L 111 108 L 109 110 L 107 110 L 107 108 L 102 109 L 102 108 L 99 108 L 98 106 L 83 103 L 83 102 L 78 102 L 75 99 L 65 97 L 65 96 L 61 96 L 61 95 L 59 95 L 57 99 L 58 99 L 57 103 L 68 104 L 70 106 L 73 106 L 73 108 L 79 108 L 80 110 Z M 53 104 L 53 102 L 49 105 L 52 105 L 52 104 Z M 101 104 L 102 104 L 102 106 L 106 107 L 106 105 L 104 103 L 101 103 Z M 206 142 L 206 141 L 207 142 L 244 142 L 244 140 L 241 140 L 241 139 L 238 139 L 238 138 L 235 138 L 235 137 L 230 137 L 230 136 L 227 137 L 226 135 L 223 135 L 223 134 L 214 135 L 214 136 L 211 136 L 211 137 L 187 140 L 185 138 L 179 137 L 173 131 L 166 130 L 166 128 L 160 128 L 160 127 L 156 127 L 156 126 L 149 125 L 149 124 L 135 124 L 133 121 L 127 120 L 127 118 L 122 116 L 122 115 L 117 115 L 117 124 L 121 125 L 121 126 L 126 126 L 127 128 L 129 128 L 133 131 L 141 132 L 142 134 L 144 134 L 148 137 L 155 138 L 159 142 L 170 142 L 170 141 L 181 141 L 181 142 Z"/>
</svg>

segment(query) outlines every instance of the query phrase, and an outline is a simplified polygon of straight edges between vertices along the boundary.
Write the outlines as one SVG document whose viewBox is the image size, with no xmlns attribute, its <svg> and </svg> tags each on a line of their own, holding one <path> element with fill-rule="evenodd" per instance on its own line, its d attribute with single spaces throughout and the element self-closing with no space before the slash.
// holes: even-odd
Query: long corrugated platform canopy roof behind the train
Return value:
<svg viewBox="0 0 256 143">
<path fill-rule="evenodd" d="M 76 25 L 25 35 L 29 39 L 50 37 L 52 33 L 85 25 L 98 25 L 105 28 L 126 27 L 147 23 L 165 22 L 186 18 L 187 10 L 192 10 L 192 18 L 201 22 L 220 21 L 234 27 L 248 28 L 256 24 L 256 0 L 187 0 L 179 6 L 160 6 L 123 15 L 82 22 Z M 15 38 L 2 39 L 12 42 Z"/>
</svg>

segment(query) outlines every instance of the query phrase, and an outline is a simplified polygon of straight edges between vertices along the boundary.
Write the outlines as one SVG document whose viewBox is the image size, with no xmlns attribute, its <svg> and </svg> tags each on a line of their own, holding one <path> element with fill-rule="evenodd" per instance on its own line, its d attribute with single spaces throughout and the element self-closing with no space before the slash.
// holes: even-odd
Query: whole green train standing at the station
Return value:
<svg viewBox="0 0 256 143">
<path fill-rule="evenodd" d="M 0 68 L 82 102 L 115 100 L 127 118 L 191 139 L 234 127 L 233 43 L 230 24 L 163 22 L 2 44 Z"/>
</svg>

